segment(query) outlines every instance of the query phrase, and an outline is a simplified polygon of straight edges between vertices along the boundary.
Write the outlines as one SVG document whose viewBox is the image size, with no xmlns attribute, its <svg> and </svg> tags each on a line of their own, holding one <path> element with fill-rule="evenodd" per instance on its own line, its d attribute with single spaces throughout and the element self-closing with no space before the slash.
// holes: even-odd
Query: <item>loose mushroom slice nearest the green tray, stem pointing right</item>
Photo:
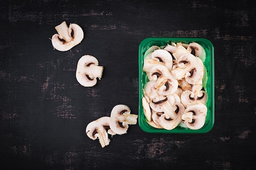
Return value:
<svg viewBox="0 0 256 170">
<path fill-rule="evenodd" d="M 110 129 L 122 135 L 128 130 L 128 124 L 137 124 L 138 115 L 130 114 L 130 108 L 124 104 L 115 106 L 110 114 Z"/>
</svg>

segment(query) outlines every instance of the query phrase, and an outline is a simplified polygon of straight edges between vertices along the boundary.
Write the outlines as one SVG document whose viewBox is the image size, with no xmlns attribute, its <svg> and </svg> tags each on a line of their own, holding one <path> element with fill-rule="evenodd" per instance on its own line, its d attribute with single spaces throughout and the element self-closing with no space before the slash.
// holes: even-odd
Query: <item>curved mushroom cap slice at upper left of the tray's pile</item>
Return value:
<svg viewBox="0 0 256 170">
<path fill-rule="evenodd" d="M 173 57 L 171 56 L 171 54 L 168 51 L 166 51 L 164 49 L 157 49 L 152 53 L 151 57 L 154 60 L 163 62 L 164 66 L 166 66 L 166 68 L 168 68 L 169 71 L 172 70 Z"/>
</svg>

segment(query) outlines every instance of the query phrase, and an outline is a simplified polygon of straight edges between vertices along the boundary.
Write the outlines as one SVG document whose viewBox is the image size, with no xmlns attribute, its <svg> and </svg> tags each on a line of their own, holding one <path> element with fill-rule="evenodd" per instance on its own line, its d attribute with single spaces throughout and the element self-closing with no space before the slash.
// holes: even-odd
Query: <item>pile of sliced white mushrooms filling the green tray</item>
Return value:
<svg viewBox="0 0 256 170">
<path fill-rule="evenodd" d="M 146 122 L 155 128 L 177 126 L 198 130 L 205 124 L 207 93 L 202 88 L 206 53 L 196 43 L 151 46 L 144 54 L 142 106 Z"/>
</svg>

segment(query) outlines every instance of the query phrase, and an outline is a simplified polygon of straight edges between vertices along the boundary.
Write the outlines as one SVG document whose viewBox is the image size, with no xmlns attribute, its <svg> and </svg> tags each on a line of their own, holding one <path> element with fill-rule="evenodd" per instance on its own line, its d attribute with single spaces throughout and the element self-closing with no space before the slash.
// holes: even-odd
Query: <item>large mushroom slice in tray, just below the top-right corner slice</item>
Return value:
<svg viewBox="0 0 256 170">
<path fill-rule="evenodd" d="M 198 60 L 194 55 L 186 53 L 178 60 L 178 67 L 171 71 L 176 79 L 185 77 L 189 84 L 202 84 L 204 76 L 204 67 L 201 60 Z"/>
</svg>

